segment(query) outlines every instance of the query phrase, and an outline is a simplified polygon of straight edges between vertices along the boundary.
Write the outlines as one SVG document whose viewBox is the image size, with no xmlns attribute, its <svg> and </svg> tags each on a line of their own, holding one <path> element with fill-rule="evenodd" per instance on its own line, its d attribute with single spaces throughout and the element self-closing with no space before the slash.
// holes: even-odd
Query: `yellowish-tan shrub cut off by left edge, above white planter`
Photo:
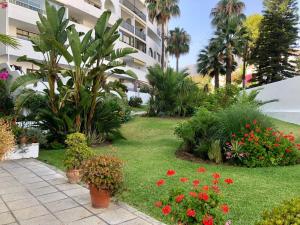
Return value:
<svg viewBox="0 0 300 225">
<path fill-rule="evenodd" d="M 0 120 L 0 160 L 14 147 L 14 135 L 10 130 L 8 123 Z"/>
</svg>

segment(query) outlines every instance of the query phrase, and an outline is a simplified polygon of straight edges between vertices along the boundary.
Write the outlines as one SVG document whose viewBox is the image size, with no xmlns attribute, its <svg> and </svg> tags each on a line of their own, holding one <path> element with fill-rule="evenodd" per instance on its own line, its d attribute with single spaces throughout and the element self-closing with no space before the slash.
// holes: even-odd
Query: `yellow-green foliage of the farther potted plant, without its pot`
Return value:
<svg viewBox="0 0 300 225">
<path fill-rule="evenodd" d="M 79 169 L 83 161 L 88 160 L 94 155 L 87 146 L 84 134 L 69 134 L 66 144 L 68 147 L 65 151 L 64 165 L 67 170 Z"/>
</svg>

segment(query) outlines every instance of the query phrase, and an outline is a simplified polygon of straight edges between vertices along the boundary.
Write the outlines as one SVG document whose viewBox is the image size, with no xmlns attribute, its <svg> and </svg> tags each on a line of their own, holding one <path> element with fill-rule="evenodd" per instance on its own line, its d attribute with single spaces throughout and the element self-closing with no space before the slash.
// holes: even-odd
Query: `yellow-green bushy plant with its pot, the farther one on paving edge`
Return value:
<svg viewBox="0 0 300 225">
<path fill-rule="evenodd" d="M 66 175 L 71 184 L 76 184 L 81 180 L 80 167 L 82 162 L 91 158 L 94 154 L 89 149 L 84 134 L 74 133 L 68 135 L 66 144 L 68 146 L 64 158 Z"/>
</svg>

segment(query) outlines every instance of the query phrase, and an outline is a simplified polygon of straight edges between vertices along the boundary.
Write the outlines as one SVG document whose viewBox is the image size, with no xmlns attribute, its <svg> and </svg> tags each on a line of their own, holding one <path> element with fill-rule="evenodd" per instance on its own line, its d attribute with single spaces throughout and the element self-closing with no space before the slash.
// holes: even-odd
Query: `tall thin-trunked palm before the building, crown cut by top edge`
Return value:
<svg viewBox="0 0 300 225">
<path fill-rule="evenodd" d="M 161 67 L 165 64 L 165 28 L 172 17 L 180 15 L 179 0 L 146 0 L 149 17 L 161 25 L 162 54 Z"/>
</svg>

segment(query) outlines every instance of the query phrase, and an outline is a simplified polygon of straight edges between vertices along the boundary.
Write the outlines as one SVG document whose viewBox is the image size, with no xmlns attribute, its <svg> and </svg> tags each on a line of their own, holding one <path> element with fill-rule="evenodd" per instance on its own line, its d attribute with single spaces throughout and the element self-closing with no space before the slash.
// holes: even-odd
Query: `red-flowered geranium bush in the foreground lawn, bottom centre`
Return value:
<svg viewBox="0 0 300 225">
<path fill-rule="evenodd" d="M 206 169 L 201 167 L 197 172 L 205 173 Z M 233 179 L 223 180 L 219 173 L 213 173 L 212 180 L 205 183 L 200 179 L 190 180 L 187 177 L 178 177 L 174 170 L 167 171 L 166 177 L 178 179 L 180 187 L 172 188 L 168 191 L 168 196 L 155 202 L 162 216 L 172 224 L 225 225 L 224 215 L 229 213 L 230 207 L 221 198 L 221 188 L 232 185 Z M 160 179 L 156 182 L 156 186 L 164 188 L 167 182 L 166 179 Z M 230 221 L 226 224 L 230 224 Z"/>
</svg>

